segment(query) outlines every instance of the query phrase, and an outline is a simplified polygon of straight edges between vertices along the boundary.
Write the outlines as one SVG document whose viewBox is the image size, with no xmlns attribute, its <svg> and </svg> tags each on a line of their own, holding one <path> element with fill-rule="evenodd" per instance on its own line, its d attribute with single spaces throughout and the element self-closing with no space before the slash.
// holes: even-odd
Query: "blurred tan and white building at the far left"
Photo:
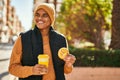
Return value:
<svg viewBox="0 0 120 80">
<path fill-rule="evenodd" d="M 11 0 L 0 0 L 0 43 L 11 42 L 13 36 L 23 31 L 23 27 Z"/>
</svg>

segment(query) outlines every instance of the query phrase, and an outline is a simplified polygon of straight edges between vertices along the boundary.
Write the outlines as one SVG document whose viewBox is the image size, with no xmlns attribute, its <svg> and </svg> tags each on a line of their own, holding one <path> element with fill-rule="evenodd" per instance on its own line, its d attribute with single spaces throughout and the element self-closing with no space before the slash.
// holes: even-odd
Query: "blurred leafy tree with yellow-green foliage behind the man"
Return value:
<svg viewBox="0 0 120 80">
<path fill-rule="evenodd" d="M 65 28 L 62 33 L 68 41 L 86 40 L 102 48 L 102 32 L 111 28 L 111 11 L 112 0 L 64 0 L 56 26 Z"/>
</svg>

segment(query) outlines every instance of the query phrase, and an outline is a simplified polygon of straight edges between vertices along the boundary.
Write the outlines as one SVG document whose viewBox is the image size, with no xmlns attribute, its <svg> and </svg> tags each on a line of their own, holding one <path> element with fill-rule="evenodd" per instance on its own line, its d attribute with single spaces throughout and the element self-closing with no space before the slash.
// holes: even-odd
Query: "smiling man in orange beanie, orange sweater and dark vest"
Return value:
<svg viewBox="0 0 120 80">
<path fill-rule="evenodd" d="M 64 59 L 58 57 L 59 49 L 66 47 L 66 38 L 53 29 L 55 9 L 51 4 L 36 4 L 35 28 L 22 33 L 16 40 L 10 58 L 9 72 L 19 80 L 65 80 L 76 60 L 70 53 Z M 49 56 L 48 67 L 38 64 L 38 55 Z"/>
</svg>

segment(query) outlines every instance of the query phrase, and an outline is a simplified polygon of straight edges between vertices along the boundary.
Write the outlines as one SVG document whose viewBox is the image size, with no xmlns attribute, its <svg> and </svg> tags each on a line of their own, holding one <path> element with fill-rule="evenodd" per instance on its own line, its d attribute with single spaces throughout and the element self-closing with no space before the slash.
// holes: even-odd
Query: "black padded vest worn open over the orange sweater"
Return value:
<svg viewBox="0 0 120 80">
<path fill-rule="evenodd" d="M 55 70 L 56 80 L 65 80 L 64 61 L 58 57 L 58 50 L 66 47 L 66 39 L 64 36 L 55 32 L 52 27 L 49 31 L 50 49 L 52 54 L 53 66 Z M 21 34 L 22 39 L 22 60 L 23 66 L 34 66 L 38 63 L 37 56 L 43 52 L 42 36 L 37 27 Z M 19 78 L 19 80 L 42 80 L 42 76 L 29 76 L 27 78 Z"/>
</svg>

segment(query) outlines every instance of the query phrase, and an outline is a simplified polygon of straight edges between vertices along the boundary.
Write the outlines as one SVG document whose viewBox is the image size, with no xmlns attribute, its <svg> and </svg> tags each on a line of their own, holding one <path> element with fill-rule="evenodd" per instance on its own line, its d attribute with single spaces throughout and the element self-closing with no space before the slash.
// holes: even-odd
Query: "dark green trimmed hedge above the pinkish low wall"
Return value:
<svg viewBox="0 0 120 80">
<path fill-rule="evenodd" d="M 83 67 L 120 67 L 120 50 L 91 50 L 70 47 L 76 56 L 74 66 Z"/>
</svg>

